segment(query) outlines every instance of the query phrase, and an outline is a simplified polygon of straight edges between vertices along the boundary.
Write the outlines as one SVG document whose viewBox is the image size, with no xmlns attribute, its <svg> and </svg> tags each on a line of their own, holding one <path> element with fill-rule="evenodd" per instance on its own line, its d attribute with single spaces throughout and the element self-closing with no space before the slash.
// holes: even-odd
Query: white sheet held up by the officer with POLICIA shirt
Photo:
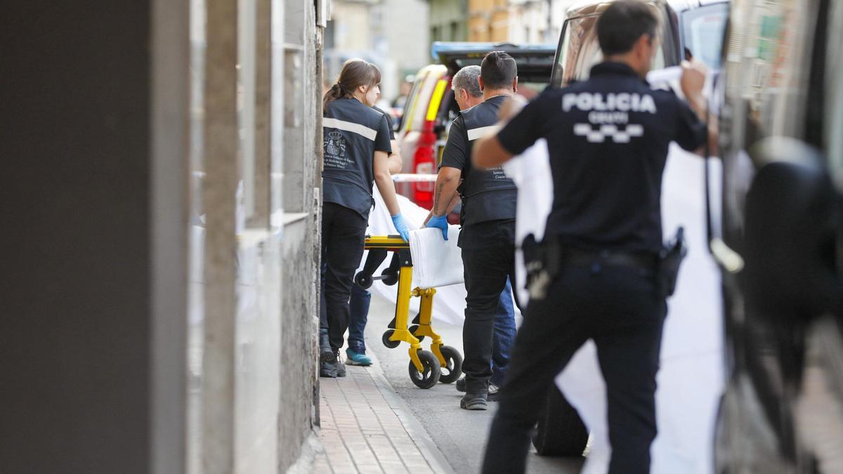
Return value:
<svg viewBox="0 0 843 474">
<path fill-rule="evenodd" d="M 653 77 L 661 76 L 660 80 L 674 83 L 675 88 L 678 74 L 672 69 Z M 711 160 L 710 164 L 714 186 L 711 194 L 719 196 L 719 163 Z M 550 212 L 553 186 L 546 144 L 537 142 L 524 155 L 508 162 L 504 169 L 518 185 L 517 244 L 530 233 L 540 238 Z M 679 274 L 676 293 L 668 301 L 657 376 L 658 437 L 651 448 L 652 473 L 713 472 L 711 446 L 724 377 L 722 299 L 719 272 L 707 251 L 704 170 L 700 157 L 671 144 L 663 178 L 663 229 L 667 239 L 673 236 L 677 226 L 684 226 L 690 250 Z M 712 202 L 711 208 L 717 212 L 717 203 Z M 516 261 L 518 283 L 513 286 L 522 301 L 527 301 L 520 250 Z M 556 385 L 577 408 L 592 434 L 591 450 L 581 472 L 608 471 L 611 446 L 606 422 L 606 389 L 593 342 L 587 342 L 574 354 L 556 378 Z"/>
</svg>

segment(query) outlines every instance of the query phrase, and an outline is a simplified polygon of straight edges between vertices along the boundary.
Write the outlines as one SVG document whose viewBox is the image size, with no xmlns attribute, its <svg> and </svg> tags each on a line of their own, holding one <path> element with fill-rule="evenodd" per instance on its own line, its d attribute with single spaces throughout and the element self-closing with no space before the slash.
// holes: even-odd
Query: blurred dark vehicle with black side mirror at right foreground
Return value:
<svg viewBox="0 0 843 474">
<path fill-rule="evenodd" d="M 843 0 L 733 0 L 718 473 L 843 472 Z"/>
</svg>

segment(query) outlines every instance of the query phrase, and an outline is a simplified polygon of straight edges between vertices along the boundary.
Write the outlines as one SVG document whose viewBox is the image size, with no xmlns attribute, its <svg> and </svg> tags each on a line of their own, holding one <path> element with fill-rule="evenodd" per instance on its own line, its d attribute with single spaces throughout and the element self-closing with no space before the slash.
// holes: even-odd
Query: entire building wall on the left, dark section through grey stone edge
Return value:
<svg viewBox="0 0 843 474">
<path fill-rule="evenodd" d="M 4 3 L 0 472 L 299 458 L 318 423 L 324 10 Z"/>
</svg>

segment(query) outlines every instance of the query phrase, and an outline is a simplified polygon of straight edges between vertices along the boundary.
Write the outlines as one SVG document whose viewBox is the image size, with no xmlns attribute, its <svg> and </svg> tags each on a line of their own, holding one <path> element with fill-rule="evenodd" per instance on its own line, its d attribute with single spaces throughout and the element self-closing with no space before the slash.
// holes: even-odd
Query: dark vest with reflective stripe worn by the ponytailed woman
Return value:
<svg viewBox="0 0 843 474">
<path fill-rule="evenodd" d="M 374 203 L 375 139 L 384 116 L 356 99 L 333 100 L 326 109 L 322 121 L 323 201 L 348 207 L 368 218 Z"/>
</svg>

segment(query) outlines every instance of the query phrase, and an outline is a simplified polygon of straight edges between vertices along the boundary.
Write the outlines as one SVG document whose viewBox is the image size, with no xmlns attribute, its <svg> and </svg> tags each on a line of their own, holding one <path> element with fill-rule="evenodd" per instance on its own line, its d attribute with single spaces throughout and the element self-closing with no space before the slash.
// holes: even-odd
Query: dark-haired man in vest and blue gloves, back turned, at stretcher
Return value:
<svg viewBox="0 0 843 474">
<path fill-rule="evenodd" d="M 427 227 L 443 230 L 448 204 L 459 191 L 462 198 L 459 247 L 462 249 L 465 289 L 463 350 L 465 395 L 459 406 L 486 410 L 491 378 L 492 331 L 501 292 L 514 278 L 515 204 L 518 190 L 498 167 L 478 170 L 471 165 L 471 147 L 497 122 L 502 103 L 518 89 L 513 57 L 491 51 L 483 58 L 479 79 L 483 102 L 462 110 L 454 120 L 443 150 L 434 191 L 432 218 Z"/>
</svg>

